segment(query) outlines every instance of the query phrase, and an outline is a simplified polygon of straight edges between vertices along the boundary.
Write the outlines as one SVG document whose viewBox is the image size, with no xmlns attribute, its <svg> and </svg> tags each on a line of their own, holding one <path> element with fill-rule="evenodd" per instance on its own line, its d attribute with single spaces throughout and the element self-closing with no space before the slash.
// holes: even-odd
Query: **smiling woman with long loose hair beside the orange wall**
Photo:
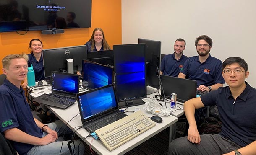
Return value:
<svg viewBox="0 0 256 155">
<path fill-rule="evenodd" d="M 111 50 L 101 28 L 93 30 L 90 40 L 85 45 L 87 46 L 87 52 Z"/>
</svg>

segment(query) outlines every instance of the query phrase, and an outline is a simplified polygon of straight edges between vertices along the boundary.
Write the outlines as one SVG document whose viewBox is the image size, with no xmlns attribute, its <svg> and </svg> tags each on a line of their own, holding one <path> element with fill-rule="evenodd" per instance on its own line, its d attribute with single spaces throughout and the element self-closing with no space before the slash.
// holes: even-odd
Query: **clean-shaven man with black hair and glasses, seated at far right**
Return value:
<svg viewBox="0 0 256 155">
<path fill-rule="evenodd" d="M 173 140 L 169 155 L 255 155 L 256 89 L 245 81 L 248 65 L 240 57 L 227 58 L 222 64 L 222 76 L 228 86 L 184 103 L 188 136 Z M 195 110 L 213 105 L 219 110 L 221 132 L 199 135 Z"/>
</svg>

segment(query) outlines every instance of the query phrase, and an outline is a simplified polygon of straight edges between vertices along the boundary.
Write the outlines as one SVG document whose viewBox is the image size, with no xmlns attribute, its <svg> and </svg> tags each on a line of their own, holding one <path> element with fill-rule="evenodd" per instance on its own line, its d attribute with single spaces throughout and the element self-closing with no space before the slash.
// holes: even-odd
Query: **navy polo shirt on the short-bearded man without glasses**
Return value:
<svg viewBox="0 0 256 155">
<path fill-rule="evenodd" d="M 168 54 L 162 59 L 161 72 L 163 72 L 163 75 L 178 77 L 180 70 L 183 68 L 184 62 L 187 59 L 188 57 L 183 54 L 179 60 L 175 59 L 174 53 Z"/>
</svg>

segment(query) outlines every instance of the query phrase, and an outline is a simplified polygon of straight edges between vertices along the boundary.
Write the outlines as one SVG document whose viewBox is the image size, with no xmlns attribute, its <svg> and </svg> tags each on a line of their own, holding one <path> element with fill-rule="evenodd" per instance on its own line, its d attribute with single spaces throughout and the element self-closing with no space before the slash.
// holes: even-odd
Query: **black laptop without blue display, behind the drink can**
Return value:
<svg viewBox="0 0 256 155">
<path fill-rule="evenodd" d="M 165 98 L 171 99 L 171 94 L 177 94 L 177 101 L 184 103 L 185 101 L 196 97 L 196 81 L 183 78 L 172 77 L 168 75 L 160 75 L 162 88 Z M 161 89 L 161 95 L 163 92 Z"/>
</svg>

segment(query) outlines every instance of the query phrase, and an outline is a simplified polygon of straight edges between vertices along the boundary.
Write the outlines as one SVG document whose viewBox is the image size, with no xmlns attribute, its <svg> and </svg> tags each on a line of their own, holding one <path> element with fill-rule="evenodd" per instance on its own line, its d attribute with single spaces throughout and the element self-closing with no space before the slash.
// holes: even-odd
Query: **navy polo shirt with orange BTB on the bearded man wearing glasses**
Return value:
<svg viewBox="0 0 256 155">
<path fill-rule="evenodd" d="M 199 56 L 189 57 L 180 72 L 185 74 L 187 79 L 196 80 L 197 87 L 199 85 L 209 86 L 225 83 L 221 67 L 222 62 L 209 54 L 203 63 L 199 61 Z"/>
</svg>

